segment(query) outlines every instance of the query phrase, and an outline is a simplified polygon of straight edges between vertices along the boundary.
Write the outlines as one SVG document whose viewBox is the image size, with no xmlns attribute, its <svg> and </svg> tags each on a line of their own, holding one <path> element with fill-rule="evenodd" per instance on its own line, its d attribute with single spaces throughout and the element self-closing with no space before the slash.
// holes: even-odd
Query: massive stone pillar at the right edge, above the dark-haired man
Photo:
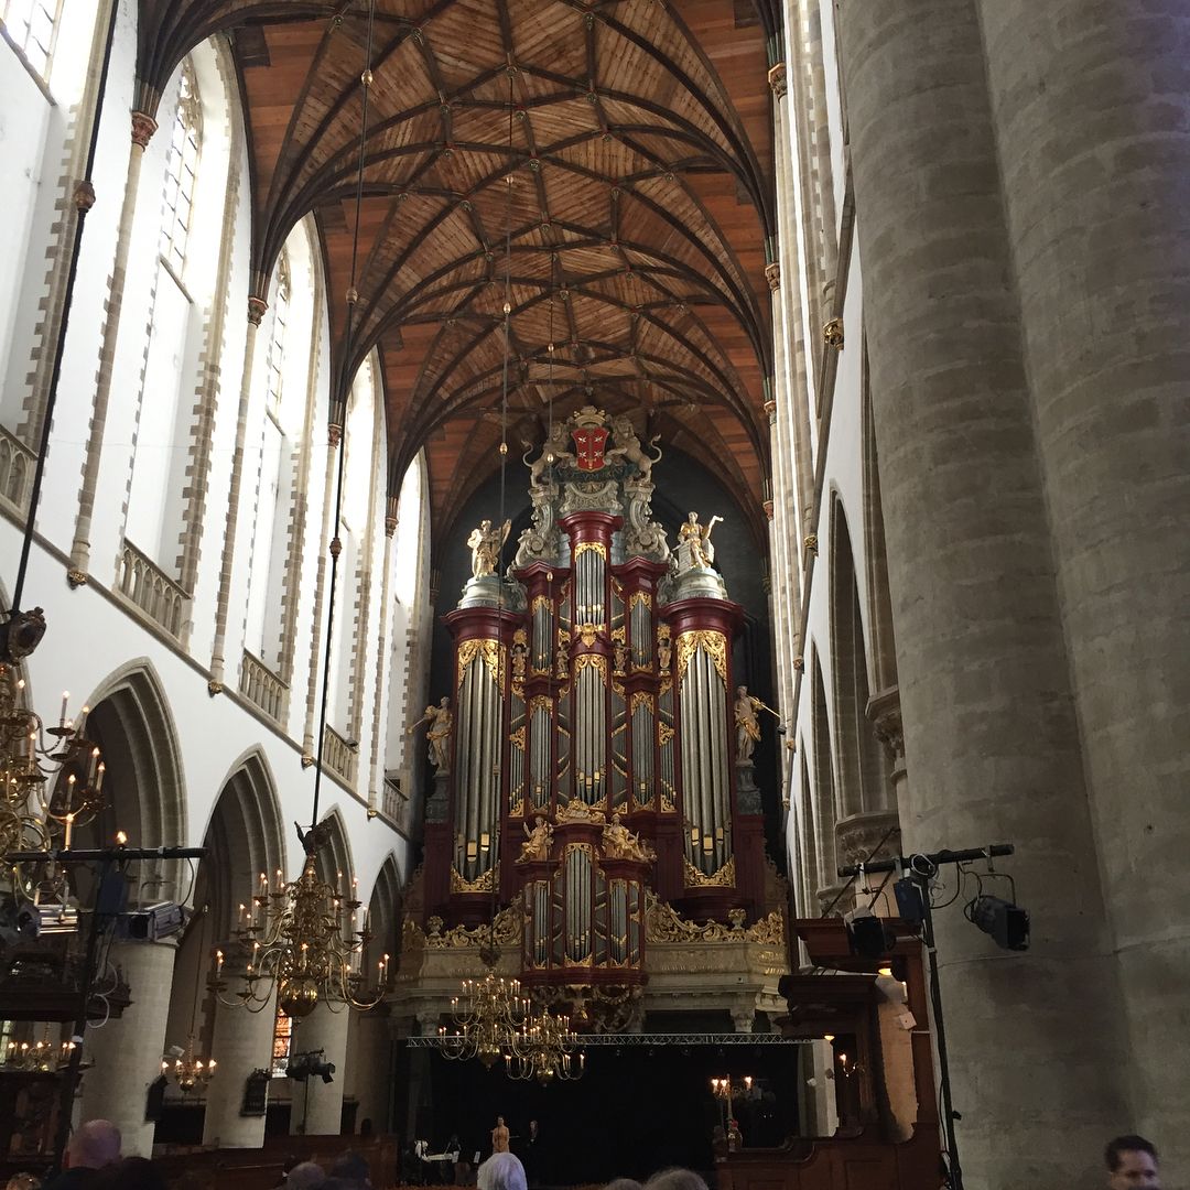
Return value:
<svg viewBox="0 0 1190 1190">
<path fill-rule="evenodd" d="M 1176 0 L 981 13 L 1128 1027 L 1121 1123 L 1185 1171 L 1190 21 Z"/>
</svg>

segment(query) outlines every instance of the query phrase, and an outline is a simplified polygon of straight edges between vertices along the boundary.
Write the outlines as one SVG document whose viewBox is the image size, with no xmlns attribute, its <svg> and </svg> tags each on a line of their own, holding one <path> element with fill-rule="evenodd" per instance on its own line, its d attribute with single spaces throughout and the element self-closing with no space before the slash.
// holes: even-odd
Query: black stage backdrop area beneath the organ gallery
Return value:
<svg viewBox="0 0 1190 1190">
<path fill-rule="evenodd" d="M 531 1185 L 583 1185 L 625 1176 L 644 1179 L 669 1165 L 712 1170 L 712 1134 L 725 1103 L 710 1079 L 731 1076 L 732 1115 L 747 1146 L 778 1145 L 796 1130 L 797 1052 L 793 1046 L 658 1045 L 591 1046 L 585 1073 L 575 1082 L 519 1082 L 502 1065 L 449 1061 L 436 1051 L 402 1051 L 426 1063 L 414 1139 L 439 1152 L 457 1133 L 464 1159 L 491 1152 L 491 1128 L 502 1115 L 512 1150 L 526 1160 Z M 403 1069 L 402 1069 L 403 1067 Z M 751 1092 L 745 1077 L 752 1078 Z M 409 1119 L 399 1107 L 396 1119 Z M 530 1120 L 539 1141 L 527 1144 Z M 402 1136 L 402 1140 L 406 1138 Z"/>
</svg>

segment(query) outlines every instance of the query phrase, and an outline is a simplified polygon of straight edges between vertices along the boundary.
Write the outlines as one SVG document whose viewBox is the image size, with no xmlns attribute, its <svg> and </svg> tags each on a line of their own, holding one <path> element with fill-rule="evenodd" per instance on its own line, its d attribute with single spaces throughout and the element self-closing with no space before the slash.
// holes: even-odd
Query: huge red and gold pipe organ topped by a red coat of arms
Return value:
<svg viewBox="0 0 1190 1190">
<path fill-rule="evenodd" d="M 452 764 L 427 815 L 426 912 L 475 925 L 519 904 L 530 987 L 644 983 L 650 892 L 702 919 L 760 909 L 743 613 L 709 530 L 691 514 L 671 550 L 652 521 L 659 457 L 627 418 L 581 409 L 532 465 L 513 565 L 476 564 L 445 618 Z"/>
</svg>

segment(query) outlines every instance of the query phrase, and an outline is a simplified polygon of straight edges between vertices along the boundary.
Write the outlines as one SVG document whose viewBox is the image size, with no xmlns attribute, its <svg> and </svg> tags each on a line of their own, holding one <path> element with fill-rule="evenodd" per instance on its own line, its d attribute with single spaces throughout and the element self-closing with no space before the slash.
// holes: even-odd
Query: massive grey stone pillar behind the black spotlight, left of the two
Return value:
<svg viewBox="0 0 1190 1190">
<path fill-rule="evenodd" d="M 981 31 L 975 0 L 846 0 L 838 32 L 913 772 L 903 843 L 1017 845 L 1032 950 L 997 951 L 956 904 L 939 957 L 967 1190 L 1041 1190 L 1119 1130 L 1125 1057 Z"/>
</svg>

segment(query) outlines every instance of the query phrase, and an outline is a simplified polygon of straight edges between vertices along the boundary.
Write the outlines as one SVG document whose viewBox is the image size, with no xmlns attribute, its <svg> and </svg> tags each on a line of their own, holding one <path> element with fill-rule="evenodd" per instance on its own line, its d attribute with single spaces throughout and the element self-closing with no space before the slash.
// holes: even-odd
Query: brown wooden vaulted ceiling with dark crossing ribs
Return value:
<svg viewBox="0 0 1190 1190">
<path fill-rule="evenodd" d="M 507 390 L 512 458 L 551 415 L 632 411 L 722 476 L 763 541 L 775 218 L 751 0 L 142 0 L 142 109 L 219 32 L 253 288 L 313 212 L 334 389 L 378 349 L 390 490 L 424 447 L 437 540 L 499 466 Z"/>
</svg>

